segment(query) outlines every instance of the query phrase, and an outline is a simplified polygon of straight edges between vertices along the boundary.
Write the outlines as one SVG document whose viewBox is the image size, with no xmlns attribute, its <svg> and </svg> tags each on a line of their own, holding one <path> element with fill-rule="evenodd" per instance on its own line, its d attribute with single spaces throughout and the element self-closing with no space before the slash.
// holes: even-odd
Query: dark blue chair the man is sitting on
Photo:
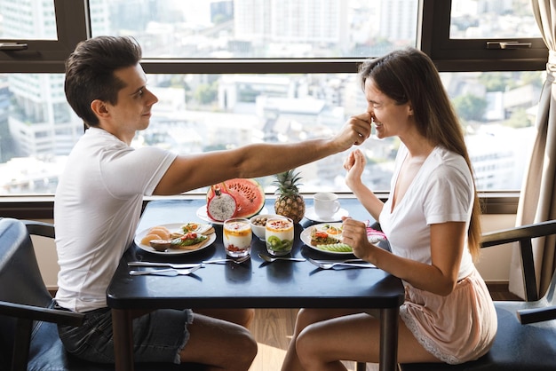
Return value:
<svg viewBox="0 0 556 371">
<path fill-rule="evenodd" d="M 57 324 L 79 326 L 83 315 L 54 309 L 36 262 L 31 234 L 54 238 L 54 226 L 0 218 L 0 370 L 114 370 L 114 365 L 77 359 L 64 349 Z M 195 364 L 138 363 L 135 369 L 203 368 Z"/>
</svg>

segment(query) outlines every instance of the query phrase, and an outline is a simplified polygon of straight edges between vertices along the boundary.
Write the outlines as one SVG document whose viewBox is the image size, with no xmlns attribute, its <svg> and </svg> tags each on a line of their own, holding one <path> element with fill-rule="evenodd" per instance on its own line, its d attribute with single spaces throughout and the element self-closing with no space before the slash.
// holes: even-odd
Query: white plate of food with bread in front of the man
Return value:
<svg viewBox="0 0 556 371">
<path fill-rule="evenodd" d="M 139 249 L 161 255 L 188 254 L 216 241 L 212 225 L 189 222 L 155 225 L 135 235 Z"/>
</svg>

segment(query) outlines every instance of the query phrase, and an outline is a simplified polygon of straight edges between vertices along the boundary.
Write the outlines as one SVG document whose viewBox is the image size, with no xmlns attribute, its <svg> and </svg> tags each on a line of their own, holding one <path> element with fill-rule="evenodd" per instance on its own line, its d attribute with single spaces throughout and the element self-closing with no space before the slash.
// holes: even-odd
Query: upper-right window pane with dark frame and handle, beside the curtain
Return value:
<svg viewBox="0 0 556 371">
<path fill-rule="evenodd" d="M 424 1 L 421 49 L 443 71 L 544 70 L 529 0 Z"/>
</svg>

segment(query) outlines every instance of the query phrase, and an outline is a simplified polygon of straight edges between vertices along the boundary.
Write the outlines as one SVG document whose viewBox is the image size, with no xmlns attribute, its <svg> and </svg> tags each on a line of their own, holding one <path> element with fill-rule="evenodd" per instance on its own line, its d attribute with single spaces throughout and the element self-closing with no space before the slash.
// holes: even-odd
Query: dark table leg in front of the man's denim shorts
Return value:
<svg viewBox="0 0 556 371">
<path fill-rule="evenodd" d="M 133 371 L 133 328 L 131 313 L 121 309 L 112 310 L 114 333 L 115 370 Z"/>
</svg>

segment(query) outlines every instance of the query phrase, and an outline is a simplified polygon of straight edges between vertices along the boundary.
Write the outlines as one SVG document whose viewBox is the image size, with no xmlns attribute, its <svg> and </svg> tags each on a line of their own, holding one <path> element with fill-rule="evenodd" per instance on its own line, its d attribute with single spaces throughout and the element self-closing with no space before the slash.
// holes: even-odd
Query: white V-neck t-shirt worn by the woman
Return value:
<svg viewBox="0 0 556 371">
<path fill-rule="evenodd" d="M 400 147 L 391 189 L 394 189 L 401 163 L 408 153 L 407 147 Z M 395 255 L 431 264 L 430 225 L 465 222 L 468 228 L 473 201 L 473 178 L 465 159 L 437 146 L 426 158 L 395 208 L 392 210 L 391 199 L 385 202 L 379 216 L 380 227 L 388 237 Z M 458 280 L 467 277 L 473 269 L 473 258 L 465 238 Z"/>
</svg>

